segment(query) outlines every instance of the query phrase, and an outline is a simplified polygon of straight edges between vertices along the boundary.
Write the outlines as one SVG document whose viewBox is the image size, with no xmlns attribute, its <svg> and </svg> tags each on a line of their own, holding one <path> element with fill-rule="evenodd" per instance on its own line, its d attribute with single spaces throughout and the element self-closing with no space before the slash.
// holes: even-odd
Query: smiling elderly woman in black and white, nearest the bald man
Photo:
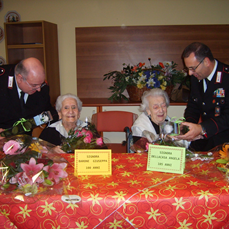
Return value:
<svg viewBox="0 0 229 229">
<path fill-rule="evenodd" d="M 56 100 L 56 110 L 60 120 L 46 127 L 42 131 L 40 138 L 60 146 L 62 140 L 68 137 L 70 130 L 84 127 L 87 123 L 79 120 L 82 102 L 73 94 L 60 95 Z M 60 147 L 57 147 L 56 151 L 64 153 Z"/>
</svg>

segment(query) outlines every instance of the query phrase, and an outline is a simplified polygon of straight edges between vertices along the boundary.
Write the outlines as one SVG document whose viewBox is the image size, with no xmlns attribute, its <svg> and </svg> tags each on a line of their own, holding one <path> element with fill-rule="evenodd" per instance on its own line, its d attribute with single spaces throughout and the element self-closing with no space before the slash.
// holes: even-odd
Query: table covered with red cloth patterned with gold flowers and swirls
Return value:
<svg viewBox="0 0 229 229">
<path fill-rule="evenodd" d="M 73 164 L 73 155 L 63 156 Z M 112 176 L 79 176 L 76 204 L 61 195 L 24 203 L 2 194 L 0 228 L 229 228 L 229 185 L 213 161 L 187 161 L 184 174 L 146 164 L 146 153 L 112 154 Z"/>
</svg>

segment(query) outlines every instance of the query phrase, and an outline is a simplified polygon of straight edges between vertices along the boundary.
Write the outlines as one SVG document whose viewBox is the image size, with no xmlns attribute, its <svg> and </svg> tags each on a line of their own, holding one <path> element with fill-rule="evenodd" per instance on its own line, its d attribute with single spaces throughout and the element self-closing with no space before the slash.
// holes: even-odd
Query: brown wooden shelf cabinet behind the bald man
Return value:
<svg viewBox="0 0 229 229">
<path fill-rule="evenodd" d="M 6 61 L 16 64 L 28 57 L 39 59 L 45 68 L 54 104 L 60 95 L 57 25 L 47 21 L 9 22 L 4 24 Z"/>
</svg>

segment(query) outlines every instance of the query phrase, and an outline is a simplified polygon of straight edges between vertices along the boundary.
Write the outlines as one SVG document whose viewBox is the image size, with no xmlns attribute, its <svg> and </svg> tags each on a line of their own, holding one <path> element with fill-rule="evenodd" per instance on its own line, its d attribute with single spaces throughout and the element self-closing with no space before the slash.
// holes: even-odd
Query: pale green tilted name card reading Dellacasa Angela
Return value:
<svg viewBox="0 0 229 229">
<path fill-rule="evenodd" d="M 183 174 L 185 148 L 149 145 L 147 170 Z"/>
</svg>

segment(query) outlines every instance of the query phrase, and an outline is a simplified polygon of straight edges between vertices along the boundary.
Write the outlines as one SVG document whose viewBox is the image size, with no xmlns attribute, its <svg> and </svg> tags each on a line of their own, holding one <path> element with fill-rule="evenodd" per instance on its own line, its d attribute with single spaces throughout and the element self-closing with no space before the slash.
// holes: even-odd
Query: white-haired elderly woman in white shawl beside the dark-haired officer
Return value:
<svg viewBox="0 0 229 229">
<path fill-rule="evenodd" d="M 134 141 L 140 137 L 146 137 L 149 142 L 157 139 L 160 134 L 159 125 L 166 119 L 169 97 L 165 91 L 159 88 L 145 91 L 142 96 L 140 111 L 142 114 L 132 126 Z"/>
</svg>

